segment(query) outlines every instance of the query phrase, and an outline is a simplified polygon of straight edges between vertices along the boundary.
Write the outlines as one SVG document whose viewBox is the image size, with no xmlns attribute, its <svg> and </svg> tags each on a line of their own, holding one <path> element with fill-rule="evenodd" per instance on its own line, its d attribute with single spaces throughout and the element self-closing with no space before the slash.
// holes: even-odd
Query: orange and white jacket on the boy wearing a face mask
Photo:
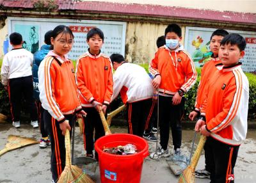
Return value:
<svg viewBox="0 0 256 183">
<path fill-rule="evenodd" d="M 148 70 L 154 77 L 161 75 L 159 92 L 163 94 L 174 95 L 178 90 L 188 92 L 196 82 L 193 60 L 181 45 L 172 52 L 165 45 L 159 47 Z"/>
</svg>

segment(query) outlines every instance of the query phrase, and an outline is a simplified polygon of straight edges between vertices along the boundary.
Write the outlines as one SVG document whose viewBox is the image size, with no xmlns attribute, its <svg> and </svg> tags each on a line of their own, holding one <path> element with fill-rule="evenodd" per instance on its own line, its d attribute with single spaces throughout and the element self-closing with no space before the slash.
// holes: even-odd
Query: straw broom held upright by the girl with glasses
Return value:
<svg viewBox="0 0 256 183">
<path fill-rule="evenodd" d="M 93 183 L 93 180 L 83 173 L 83 171 L 75 165 L 71 164 L 70 156 L 70 134 L 67 129 L 65 133 L 65 148 L 66 148 L 66 166 L 62 171 L 58 183 L 67 183 L 67 182 L 86 182 Z"/>
</svg>

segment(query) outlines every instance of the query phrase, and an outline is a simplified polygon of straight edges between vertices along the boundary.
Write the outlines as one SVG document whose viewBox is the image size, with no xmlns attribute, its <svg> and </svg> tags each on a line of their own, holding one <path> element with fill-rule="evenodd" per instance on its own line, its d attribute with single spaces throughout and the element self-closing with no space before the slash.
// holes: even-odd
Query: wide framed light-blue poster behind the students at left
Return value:
<svg viewBox="0 0 256 183">
<path fill-rule="evenodd" d="M 101 49 L 104 54 L 110 56 L 113 53 L 125 53 L 126 22 L 8 17 L 8 34 L 14 31 L 20 33 L 24 40 L 23 47 L 34 53 L 44 45 L 45 33 L 58 25 L 72 29 L 74 45 L 68 53 L 68 58 L 72 60 L 77 60 L 88 50 L 86 35 L 92 28 L 99 28 L 104 33 Z"/>
</svg>

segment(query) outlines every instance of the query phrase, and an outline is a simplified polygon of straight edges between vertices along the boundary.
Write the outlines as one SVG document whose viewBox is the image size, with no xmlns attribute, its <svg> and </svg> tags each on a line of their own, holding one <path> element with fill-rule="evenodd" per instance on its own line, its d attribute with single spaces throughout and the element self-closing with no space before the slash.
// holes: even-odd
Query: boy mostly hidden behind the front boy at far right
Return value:
<svg viewBox="0 0 256 183">
<path fill-rule="evenodd" d="M 202 67 L 201 79 L 198 85 L 198 90 L 196 95 L 195 109 L 189 114 L 189 118 L 192 121 L 195 119 L 196 116 L 200 114 L 200 109 L 202 108 L 202 102 L 205 99 L 205 85 L 208 83 L 212 74 L 214 74 L 214 72 L 217 70 L 215 65 L 218 65 L 219 63 L 221 63 L 220 59 L 218 58 L 218 52 L 220 49 L 221 40 L 226 35 L 228 35 L 228 32 L 223 29 L 217 29 L 211 35 L 210 50 L 212 52 L 212 59 L 207 61 Z M 205 150 L 205 168 L 202 170 L 196 170 L 195 177 L 210 179 L 209 167 L 212 166 L 212 163 L 211 163 L 212 159 L 207 154 L 208 152 L 207 143 L 205 143 L 204 145 L 204 150 Z"/>
</svg>

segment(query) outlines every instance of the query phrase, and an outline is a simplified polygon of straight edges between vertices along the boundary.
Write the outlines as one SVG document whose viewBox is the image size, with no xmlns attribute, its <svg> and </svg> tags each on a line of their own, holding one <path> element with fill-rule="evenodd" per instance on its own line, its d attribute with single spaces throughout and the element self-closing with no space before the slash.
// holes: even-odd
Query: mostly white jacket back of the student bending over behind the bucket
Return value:
<svg viewBox="0 0 256 183">
<path fill-rule="evenodd" d="M 124 62 L 114 74 L 115 99 L 120 93 L 124 104 L 150 99 L 153 96 L 152 79 L 140 65 Z"/>
</svg>

